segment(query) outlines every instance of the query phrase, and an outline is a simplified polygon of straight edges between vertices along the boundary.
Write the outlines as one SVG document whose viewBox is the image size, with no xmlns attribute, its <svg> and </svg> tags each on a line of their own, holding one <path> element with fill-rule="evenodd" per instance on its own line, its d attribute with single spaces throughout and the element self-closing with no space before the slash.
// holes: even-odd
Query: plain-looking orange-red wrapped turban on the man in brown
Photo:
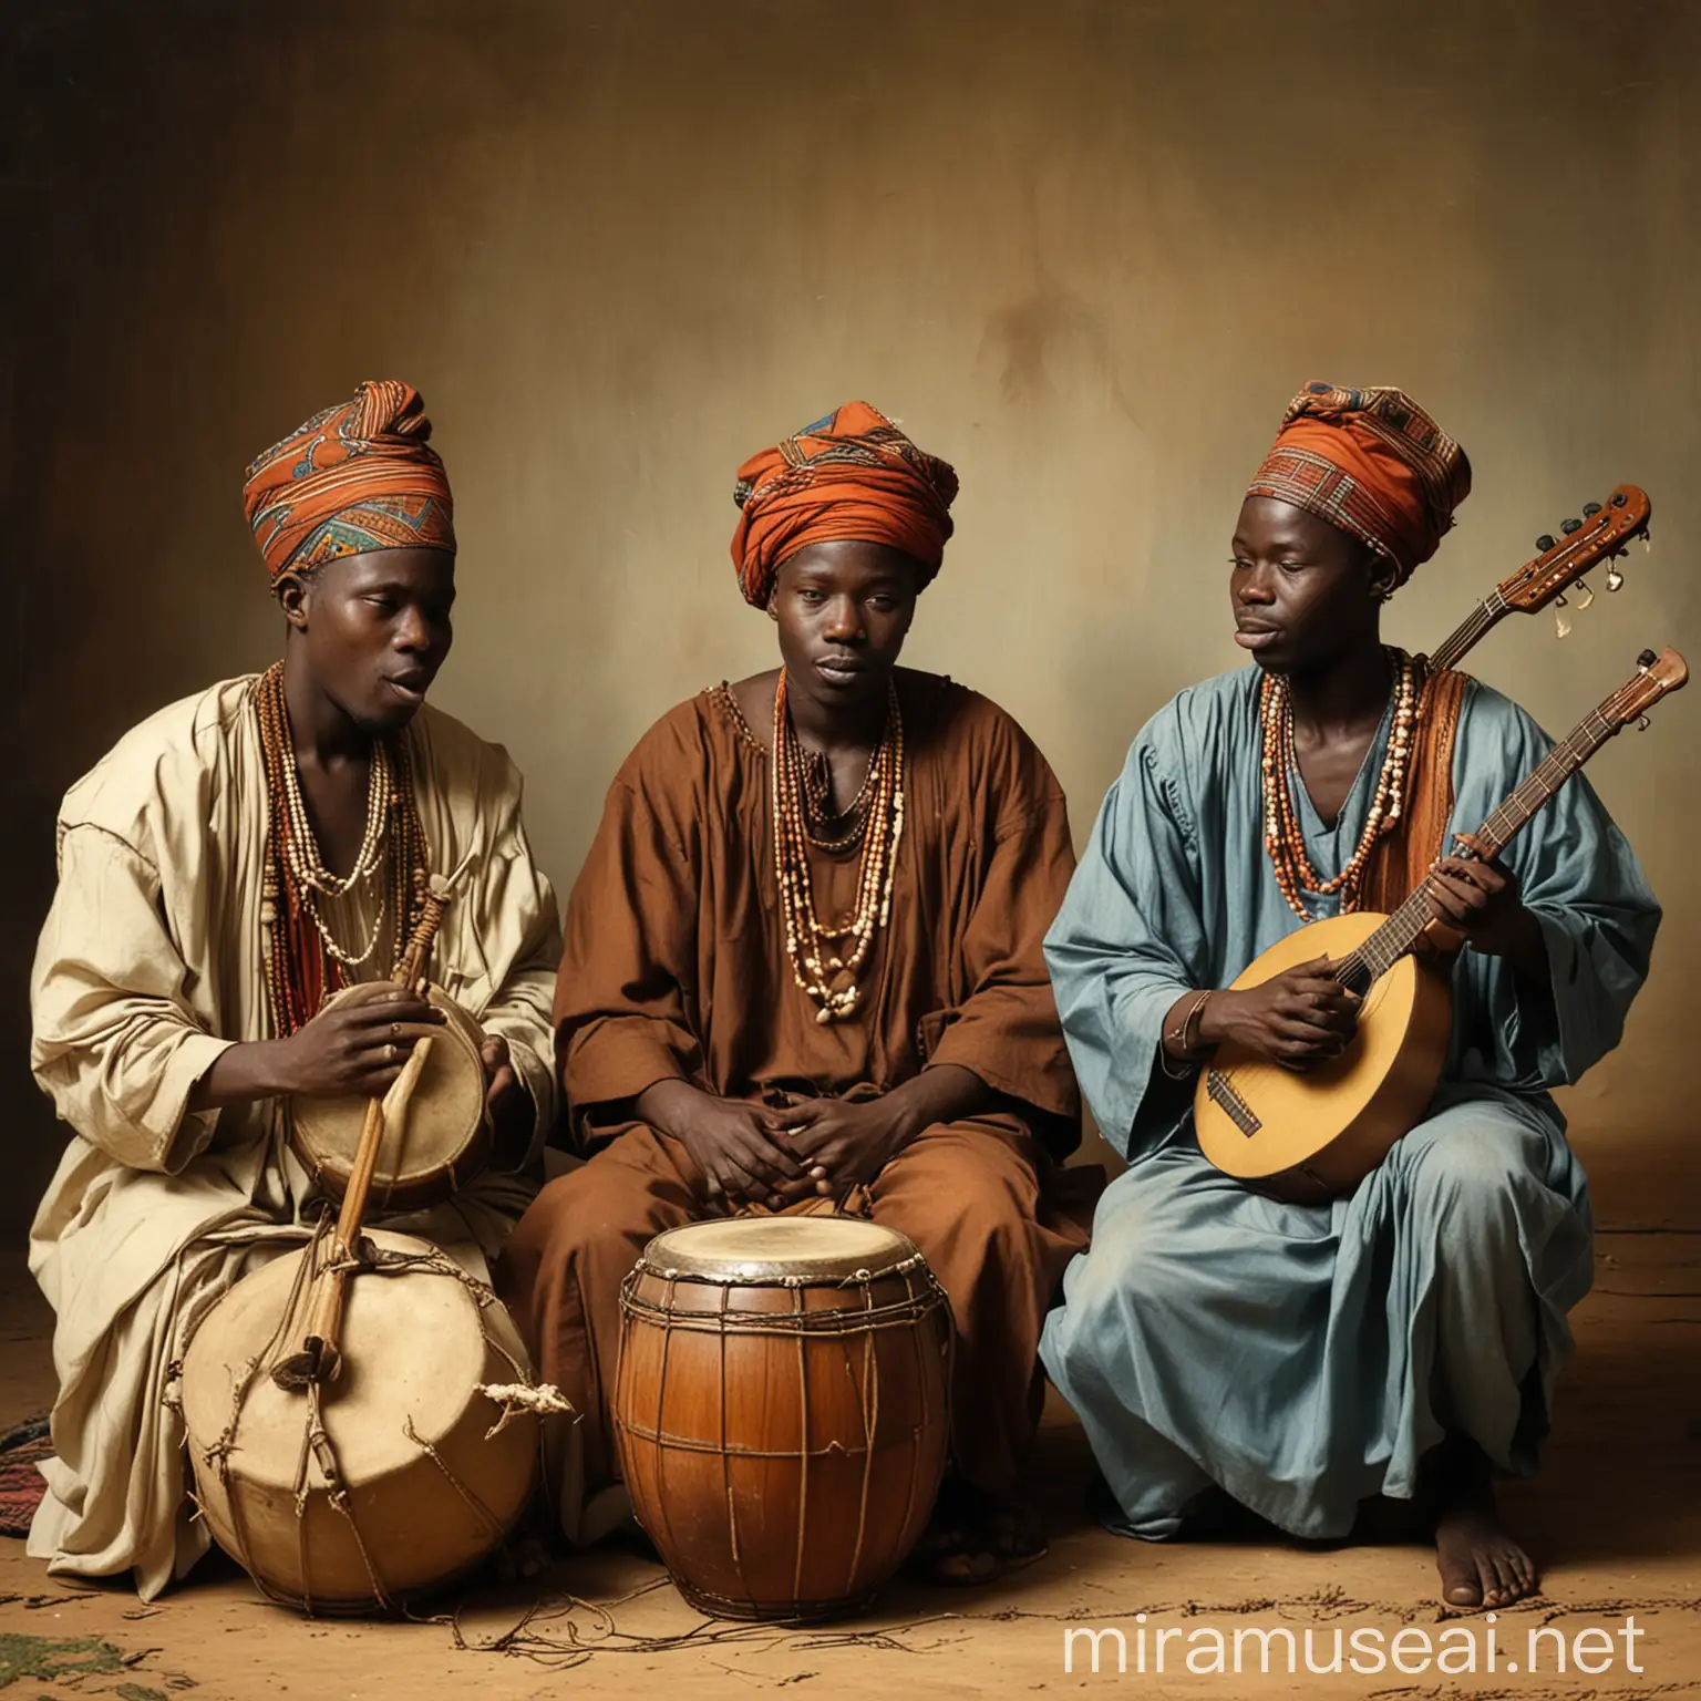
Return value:
<svg viewBox="0 0 1701 1701">
<path fill-rule="evenodd" d="M 866 401 L 847 401 L 738 468 L 733 566 L 745 600 L 767 607 L 784 561 L 811 543 L 854 538 L 902 549 L 930 585 L 951 536 L 956 473 Z"/>
</svg>

